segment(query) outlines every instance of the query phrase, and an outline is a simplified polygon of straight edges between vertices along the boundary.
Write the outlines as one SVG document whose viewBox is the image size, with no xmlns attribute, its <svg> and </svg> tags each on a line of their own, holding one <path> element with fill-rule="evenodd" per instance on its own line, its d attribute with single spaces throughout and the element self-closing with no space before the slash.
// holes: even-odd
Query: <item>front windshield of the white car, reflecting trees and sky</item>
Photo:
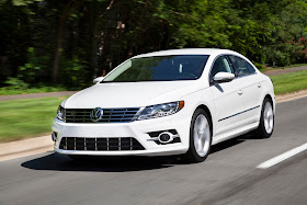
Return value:
<svg viewBox="0 0 307 205">
<path fill-rule="evenodd" d="M 209 56 L 180 55 L 133 58 L 117 67 L 103 82 L 195 80 Z"/>
</svg>

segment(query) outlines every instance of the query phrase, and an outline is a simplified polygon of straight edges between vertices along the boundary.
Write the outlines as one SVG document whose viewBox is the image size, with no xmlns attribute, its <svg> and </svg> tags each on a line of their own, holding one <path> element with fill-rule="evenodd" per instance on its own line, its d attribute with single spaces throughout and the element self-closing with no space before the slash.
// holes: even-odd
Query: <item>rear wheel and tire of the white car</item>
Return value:
<svg viewBox="0 0 307 205">
<path fill-rule="evenodd" d="M 274 111 L 273 103 L 270 99 L 265 98 L 261 109 L 260 123 L 255 129 L 258 138 L 269 138 L 272 136 L 274 130 Z"/>
</svg>

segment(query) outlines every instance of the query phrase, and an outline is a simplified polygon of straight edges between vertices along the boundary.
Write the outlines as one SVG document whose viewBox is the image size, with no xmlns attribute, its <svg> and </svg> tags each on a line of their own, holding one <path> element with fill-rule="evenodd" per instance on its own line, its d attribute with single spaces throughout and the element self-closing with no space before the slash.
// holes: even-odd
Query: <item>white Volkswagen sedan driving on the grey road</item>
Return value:
<svg viewBox="0 0 307 205">
<path fill-rule="evenodd" d="M 227 49 L 135 56 L 65 100 L 53 124 L 55 151 L 79 156 L 172 156 L 203 161 L 211 146 L 274 128 L 272 81 Z"/>
</svg>

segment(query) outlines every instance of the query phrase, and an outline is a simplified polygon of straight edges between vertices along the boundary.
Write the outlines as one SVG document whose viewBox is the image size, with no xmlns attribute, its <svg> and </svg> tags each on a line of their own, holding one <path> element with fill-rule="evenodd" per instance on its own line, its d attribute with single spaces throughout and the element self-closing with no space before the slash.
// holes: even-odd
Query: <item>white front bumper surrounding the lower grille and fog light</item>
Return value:
<svg viewBox="0 0 307 205">
<path fill-rule="evenodd" d="M 130 123 L 64 123 L 54 119 L 53 130 L 57 133 L 55 151 L 64 155 L 87 156 L 171 156 L 184 153 L 189 149 L 191 117 L 180 111 L 173 115 L 135 121 Z M 175 129 L 180 143 L 158 145 L 148 133 Z M 82 138 L 135 138 L 144 150 L 66 150 L 60 149 L 62 137 Z"/>
</svg>

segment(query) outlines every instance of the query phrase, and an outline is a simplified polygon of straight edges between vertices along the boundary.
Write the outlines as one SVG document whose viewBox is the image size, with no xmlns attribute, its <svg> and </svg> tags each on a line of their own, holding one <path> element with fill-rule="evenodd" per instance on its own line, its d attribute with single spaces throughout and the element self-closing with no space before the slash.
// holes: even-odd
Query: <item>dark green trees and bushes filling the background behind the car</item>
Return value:
<svg viewBox="0 0 307 205">
<path fill-rule="evenodd" d="M 1 0 L 0 86 L 83 87 L 130 56 L 183 47 L 305 62 L 306 16 L 302 0 Z"/>
</svg>

